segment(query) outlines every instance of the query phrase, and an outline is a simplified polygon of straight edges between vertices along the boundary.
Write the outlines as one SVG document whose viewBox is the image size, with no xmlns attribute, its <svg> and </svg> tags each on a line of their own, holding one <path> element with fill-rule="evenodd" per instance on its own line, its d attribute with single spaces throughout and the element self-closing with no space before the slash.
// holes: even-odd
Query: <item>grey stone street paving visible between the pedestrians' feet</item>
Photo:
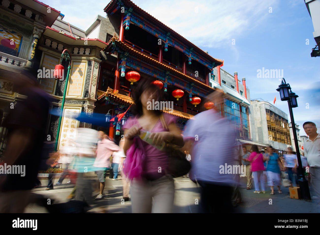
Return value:
<svg viewBox="0 0 320 235">
<path fill-rule="evenodd" d="M 54 180 L 54 184 L 58 179 Z M 74 185 L 66 184 L 68 179 L 63 181 L 62 185 L 54 185 L 53 190 L 45 191 L 44 187 L 35 188 L 34 193 L 50 195 L 51 199 L 58 199 L 59 202 L 67 202 L 66 197 L 72 191 Z M 46 180 L 42 185 L 46 185 Z M 242 203 L 235 208 L 237 213 L 320 213 L 320 205 L 317 205 L 318 199 L 313 197 L 312 201 L 290 198 L 289 189 L 282 187 L 282 194 L 275 191 L 275 195 L 270 195 L 270 188 L 266 186 L 266 194 L 253 193 L 252 190 L 246 190 L 244 179 L 241 178 L 240 192 Z M 219 193 L 219 192 L 217 192 Z M 98 195 L 98 192 L 92 194 Z M 106 178 L 106 187 L 104 198 L 94 201 L 90 213 L 131 213 L 131 201 L 124 202 L 122 199 L 122 180 L 113 181 Z M 311 191 L 311 196 L 315 196 Z M 175 213 L 196 213 L 200 205 L 200 188 L 189 178 L 175 179 L 175 199 L 173 212 Z M 271 204 L 272 202 L 272 204 Z M 36 204 L 29 204 L 26 213 L 47 213 L 43 207 Z"/>
</svg>

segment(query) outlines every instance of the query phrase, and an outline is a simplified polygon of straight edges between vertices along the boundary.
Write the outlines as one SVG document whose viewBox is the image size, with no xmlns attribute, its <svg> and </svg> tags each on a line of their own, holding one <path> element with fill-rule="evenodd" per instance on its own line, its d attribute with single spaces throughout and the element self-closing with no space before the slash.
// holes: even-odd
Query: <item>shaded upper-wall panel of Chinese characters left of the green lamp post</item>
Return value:
<svg viewBox="0 0 320 235">
<path fill-rule="evenodd" d="M 40 67 L 40 69 L 42 69 L 42 67 L 44 67 L 45 69 L 51 70 L 51 69 L 54 69 L 54 67 L 57 64 L 59 64 L 59 59 L 44 54 L 42 66 Z M 47 78 L 47 77 L 43 76 L 43 78 L 41 78 L 40 88 L 50 94 L 53 94 L 55 84 L 56 84 L 56 80 L 54 78 Z"/>
</svg>

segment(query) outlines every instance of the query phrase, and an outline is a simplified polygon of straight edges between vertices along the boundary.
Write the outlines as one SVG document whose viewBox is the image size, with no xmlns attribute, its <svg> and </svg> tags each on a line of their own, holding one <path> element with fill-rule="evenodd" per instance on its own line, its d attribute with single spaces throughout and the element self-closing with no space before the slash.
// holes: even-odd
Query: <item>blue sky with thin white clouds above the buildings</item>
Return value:
<svg viewBox="0 0 320 235">
<path fill-rule="evenodd" d="M 88 7 L 87 0 L 43 1 L 64 14 L 63 20 L 84 30 L 96 15 L 106 15 L 103 9 L 108 4 L 95 1 Z M 257 78 L 257 70 L 263 67 L 283 69 L 286 82 L 299 95 L 293 114 L 300 135 L 305 135 L 304 121 L 320 127 L 320 57 L 310 56 L 316 43 L 303 0 L 133 2 L 212 57 L 224 59 L 224 70 L 246 78 L 251 98 L 273 103 L 276 96 L 276 106 L 288 114 L 290 122 L 288 104 L 276 91 L 279 78 Z"/>
</svg>

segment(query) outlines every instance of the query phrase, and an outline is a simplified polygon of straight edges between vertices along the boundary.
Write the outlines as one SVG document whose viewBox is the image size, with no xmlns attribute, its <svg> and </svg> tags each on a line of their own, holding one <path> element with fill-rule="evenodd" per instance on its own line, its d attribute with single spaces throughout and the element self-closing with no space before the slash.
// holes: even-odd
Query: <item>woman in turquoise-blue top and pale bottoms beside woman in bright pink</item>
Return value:
<svg viewBox="0 0 320 235">
<path fill-rule="evenodd" d="M 284 167 L 280 161 L 279 155 L 273 152 L 273 148 L 269 146 L 267 148 L 268 153 L 266 154 L 267 164 L 267 178 L 268 185 L 271 188 L 271 195 L 275 194 L 274 185 L 277 185 L 278 192 L 282 193 L 280 190 L 280 169 L 283 171 Z"/>
</svg>

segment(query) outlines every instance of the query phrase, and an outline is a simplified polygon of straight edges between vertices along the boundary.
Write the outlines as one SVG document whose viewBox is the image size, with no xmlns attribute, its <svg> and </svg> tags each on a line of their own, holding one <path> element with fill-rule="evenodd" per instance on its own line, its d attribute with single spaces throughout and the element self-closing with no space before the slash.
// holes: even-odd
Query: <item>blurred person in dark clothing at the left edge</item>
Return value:
<svg viewBox="0 0 320 235">
<path fill-rule="evenodd" d="M 0 213 L 23 213 L 37 183 L 49 112 L 49 98 L 38 87 L 34 74 L 26 69 L 18 76 L 12 74 L 14 92 L 24 95 L 3 122 L 8 129 L 3 160 L 7 166 L 20 166 L 21 174 L 7 174 L 0 180 Z M 22 169 L 21 169 L 22 170 Z M 1 183 L 2 182 L 2 183 Z"/>
</svg>

